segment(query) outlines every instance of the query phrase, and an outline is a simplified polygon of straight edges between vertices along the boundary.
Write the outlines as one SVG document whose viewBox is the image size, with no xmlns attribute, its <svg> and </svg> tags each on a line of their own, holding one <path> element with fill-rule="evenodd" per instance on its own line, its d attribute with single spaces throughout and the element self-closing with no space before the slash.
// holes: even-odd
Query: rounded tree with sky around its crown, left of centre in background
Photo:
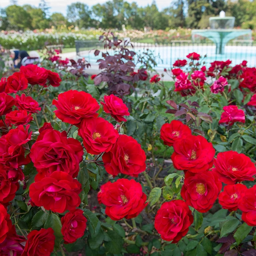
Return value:
<svg viewBox="0 0 256 256">
<path fill-rule="evenodd" d="M 67 6 L 67 20 L 79 28 L 87 28 L 91 24 L 91 11 L 87 4 L 80 2 Z"/>
</svg>

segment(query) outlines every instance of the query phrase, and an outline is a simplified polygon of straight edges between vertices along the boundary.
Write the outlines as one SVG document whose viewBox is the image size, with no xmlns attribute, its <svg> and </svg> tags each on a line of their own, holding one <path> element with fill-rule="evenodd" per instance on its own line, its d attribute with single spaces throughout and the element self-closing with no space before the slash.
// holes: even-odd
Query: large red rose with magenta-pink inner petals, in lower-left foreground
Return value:
<svg viewBox="0 0 256 256">
<path fill-rule="evenodd" d="M 78 194 L 81 190 L 81 184 L 69 174 L 53 172 L 49 177 L 32 183 L 29 187 L 29 196 L 36 206 L 63 213 L 80 205 Z"/>
</svg>

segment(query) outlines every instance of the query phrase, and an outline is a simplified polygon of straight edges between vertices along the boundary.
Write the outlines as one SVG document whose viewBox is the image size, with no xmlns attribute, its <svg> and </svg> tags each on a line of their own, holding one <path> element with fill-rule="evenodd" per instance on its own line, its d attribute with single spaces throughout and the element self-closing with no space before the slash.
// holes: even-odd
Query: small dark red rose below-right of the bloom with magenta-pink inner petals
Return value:
<svg viewBox="0 0 256 256">
<path fill-rule="evenodd" d="M 65 241 L 64 244 L 74 243 L 83 236 L 86 229 L 86 221 L 81 209 L 68 212 L 61 218 L 61 234 Z"/>
</svg>

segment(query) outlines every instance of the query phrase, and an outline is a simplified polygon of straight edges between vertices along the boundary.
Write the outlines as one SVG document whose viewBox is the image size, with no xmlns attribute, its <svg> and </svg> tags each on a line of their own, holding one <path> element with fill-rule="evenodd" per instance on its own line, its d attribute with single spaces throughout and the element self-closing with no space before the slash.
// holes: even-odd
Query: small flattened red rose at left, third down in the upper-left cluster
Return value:
<svg viewBox="0 0 256 256">
<path fill-rule="evenodd" d="M 32 114 L 26 110 L 13 110 L 6 114 L 5 121 L 8 124 L 18 126 L 20 124 L 25 125 L 33 120 Z"/>
</svg>

